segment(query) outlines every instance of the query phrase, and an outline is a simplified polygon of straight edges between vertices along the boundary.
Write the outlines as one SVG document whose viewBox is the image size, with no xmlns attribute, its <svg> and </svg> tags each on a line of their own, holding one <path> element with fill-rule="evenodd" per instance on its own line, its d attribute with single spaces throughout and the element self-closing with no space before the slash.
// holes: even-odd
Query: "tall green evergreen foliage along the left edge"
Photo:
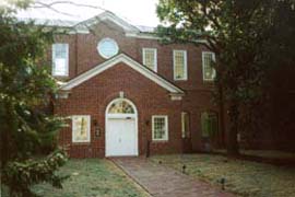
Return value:
<svg viewBox="0 0 295 197">
<path fill-rule="evenodd" d="M 48 109 L 57 88 L 44 59 L 54 31 L 13 16 L 14 8 L 25 9 L 28 4 L 16 1 L 0 8 L 1 182 L 20 196 L 33 195 L 30 185 L 38 182 L 60 186 L 62 177 L 54 172 L 64 163 L 62 152 L 45 161 L 32 159 L 45 147 L 47 152 L 56 149 L 57 131 L 64 124 Z"/>
</svg>

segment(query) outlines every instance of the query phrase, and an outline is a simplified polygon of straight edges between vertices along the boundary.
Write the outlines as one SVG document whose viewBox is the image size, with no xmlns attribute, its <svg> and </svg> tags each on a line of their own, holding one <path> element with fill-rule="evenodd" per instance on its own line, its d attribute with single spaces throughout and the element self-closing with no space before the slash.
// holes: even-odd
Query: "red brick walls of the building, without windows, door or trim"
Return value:
<svg viewBox="0 0 295 197">
<path fill-rule="evenodd" d="M 161 45 L 157 39 L 126 36 L 123 30 L 111 22 L 101 22 L 90 34 L 59 36 L 57 43 L 69 44 L 69 79 L 106 61 L 97 53 L 97 43 L 110 37 L 119 46 L 118 54 L 126 54 L 142 63 L 142 48 L 157 49 L 157 74 L 185 91 L 181 101 L 172 101 L 167 90 L 145 78 L 127 65 L 120 62 L 110 69 L 88 79 L 70 91 L 68 99 L 55 101 L 55 113 L 61 116 L 90 115 L 91 142 L 73 143 L 72 128 L 60 132 L 60 144 L 69 146 L 69 153 L 74 158 L 105 155 L 105 111 L 107 105 L 119 97 L 119 92 L 132 101 L 138 109 L 139 154 L 146 153 L 146 143 L 151 141 L 150 153 L 179 153 L 203 149 L 201 137 L 201 113 L 217 112 L 212 102 L 212 83 L 202 79 L 202 49 L 193 45 Z M 173 50 L 187 51 L 188 80 L 174 81 Z M 181 138 L 181 112 L 189 114 L 190 138 Z M 168 116 L 168 141 L 152 141 L 152 116 Z M 97 121 L 102 132 L 94 131 Z"/>
</svg>

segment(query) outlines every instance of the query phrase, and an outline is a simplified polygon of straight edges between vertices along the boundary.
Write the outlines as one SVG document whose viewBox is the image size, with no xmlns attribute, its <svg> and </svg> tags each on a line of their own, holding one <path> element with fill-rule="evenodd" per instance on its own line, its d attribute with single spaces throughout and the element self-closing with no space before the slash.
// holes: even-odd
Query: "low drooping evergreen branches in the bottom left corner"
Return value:
<svg viewBox="0 0 295 197">
<path fill-rule="evenodd" d="M 48 158 L 34 161 L 13 161 L 7 164 L 2 179 L 10 188 L 10 196 L 35 196 L 31 186 L 43 182 L 51 183 L 52 186 L 62 188 L 61 182 L 68 176 L 57 176 L 57 171 L 67 161 L 63 151 L 56 151 Z"/>
</svg>

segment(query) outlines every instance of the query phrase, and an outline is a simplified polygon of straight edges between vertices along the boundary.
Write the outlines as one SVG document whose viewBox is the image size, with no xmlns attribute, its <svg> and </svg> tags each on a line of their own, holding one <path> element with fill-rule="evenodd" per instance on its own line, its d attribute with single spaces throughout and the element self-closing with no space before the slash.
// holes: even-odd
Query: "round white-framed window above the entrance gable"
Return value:
<svg viewBox="0 0 295 197">
<path fill-rule="evenodd" d="M 108 59 L 118 54 L 119 47 L 114 39 L 104 38 L 98 43 L 97 50 L 103 58 Z"/>
</svg>

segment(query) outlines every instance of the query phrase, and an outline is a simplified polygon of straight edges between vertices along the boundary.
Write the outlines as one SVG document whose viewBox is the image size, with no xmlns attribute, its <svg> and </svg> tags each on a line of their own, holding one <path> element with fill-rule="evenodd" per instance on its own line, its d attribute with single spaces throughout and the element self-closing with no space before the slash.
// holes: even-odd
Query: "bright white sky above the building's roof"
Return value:
<svg viewBox="0 0 295 197">
<path fill-rule="evenodd" d="M 1 0 L 0 0 L 1 1 Z M 38 0 L 46 4 L 52 1 L 64 0 Z M 155 13 L 158 0 L 67 0 L 76 4 L 88 4 L 95 8 L 75 5 L 71 3 L 58 3 L 52 5 L 57 13 L 48 8 L 34 8 L 19 12 L 20 18 L 59 19 L 70 21 L 83 21 L 103 12 L 103 8 L 109 10 L 130 22 L 133 25 L 156 26 L 160 22 Z"/>
</svg>

